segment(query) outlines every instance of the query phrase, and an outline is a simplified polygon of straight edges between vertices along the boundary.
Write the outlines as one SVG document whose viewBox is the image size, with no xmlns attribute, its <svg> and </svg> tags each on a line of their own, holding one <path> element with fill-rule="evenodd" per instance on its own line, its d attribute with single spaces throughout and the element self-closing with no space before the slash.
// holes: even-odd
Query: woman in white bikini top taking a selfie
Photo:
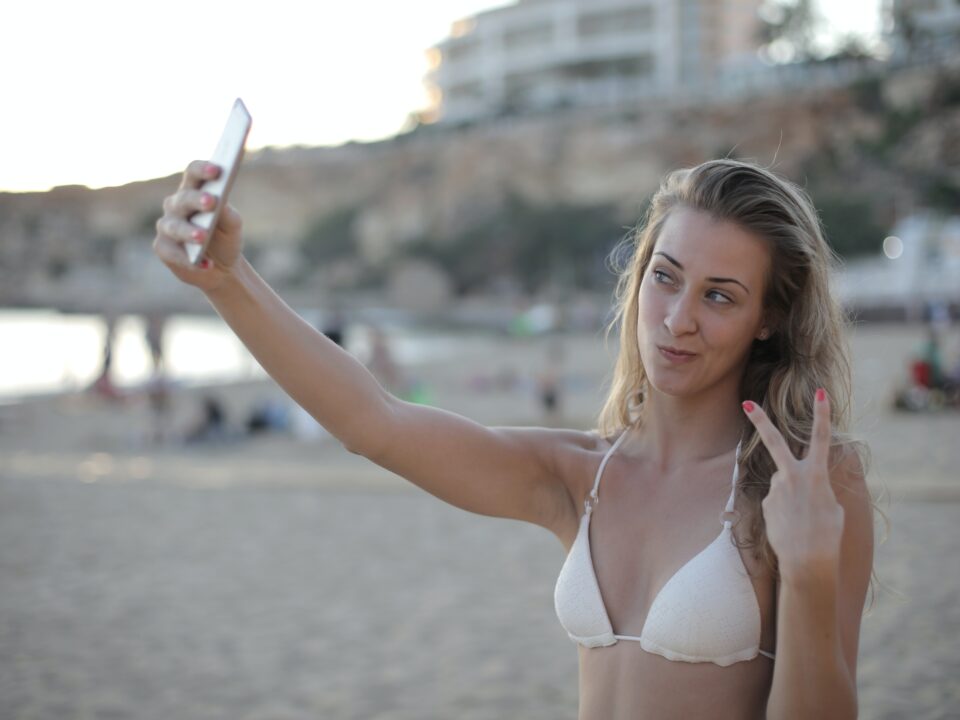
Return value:
<svg viewBox="0 0 960 720">
<path fill-rule="evenodd" d="M 580 432 L 487 428 L 385 392 L 257 276 L 229 207 L 189 266 L 217 172 L 188 168 L 157 254 L 351 452 L 560 539 L 581 718 L 856 716 L 872 507 L 844 434 L 832 256 L 801 190 L 732 160 L 667 176 L 620 276 L 599 430 Z"/>
</svg>

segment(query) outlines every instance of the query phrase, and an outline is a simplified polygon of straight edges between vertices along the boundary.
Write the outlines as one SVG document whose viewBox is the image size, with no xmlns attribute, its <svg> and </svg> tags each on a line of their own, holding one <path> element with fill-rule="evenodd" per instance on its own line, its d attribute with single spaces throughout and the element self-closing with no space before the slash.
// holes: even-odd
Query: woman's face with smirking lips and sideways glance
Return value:
<svg viewBox="0 0 960 720">
<path fill-rule="evenodd" d="M 699 210 L 671 210 L 640 284 L 637 343 L 650 384 L 674 396 L 739 386 L 763 328 L 769 271 L 762 238 Z"/>
</svg>

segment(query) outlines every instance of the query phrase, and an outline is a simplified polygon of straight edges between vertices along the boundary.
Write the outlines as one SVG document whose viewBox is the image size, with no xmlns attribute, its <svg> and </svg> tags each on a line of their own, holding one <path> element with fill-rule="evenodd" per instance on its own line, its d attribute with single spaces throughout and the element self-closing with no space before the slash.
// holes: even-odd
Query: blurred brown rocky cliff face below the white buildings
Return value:
<svg viewBox="0 0 960 720">
<path fill-rule="evenodd" d="M 936 85 L 918 89 L 899 76 L 881 82 L 897 106 L 913 108 Z M 949 122 L 927 119 L 898 156 L 913 165 L 944 158 L 956 164 L 956 113 Z M 811 159 L 827 154 L 843 166 L 844 182 L 862 182 L 864 191 L 909 203 L 905 183 L 883 179 L 883 172 L 856 157 L 858 144 L 875 141 L 883 128 L 878 114 L 844 88 L 791 88 L 709 107 L 424 127 L 367 145 L 251 153 L 231 202 L 244 217 L 258 267 L 267 275 L 275 268 L 272 279 L 282 282 L 299 262 L 305 229 L 339 209 L 357 210 L 354 231 L 363 260 L 383 263 L 405 242 L 442 239 L 470 227 L 510 194 L 548 204 L 608 203 L 619 220 L 633 224 L 665 171 L 717 156 L 751 159 L 802 184 Z M 886 185 L 871 186 L 880 182 Z M 171 176 L 101 190 L 0 194 L 0 303 L 95 297 L 102 283 L 89 275 L 86 283 L 78 280 L 91 268 L 136 274 L 145 264 L 157 265 L 150 258 L 153 225 L 177 183 Z"/>
</svg>

